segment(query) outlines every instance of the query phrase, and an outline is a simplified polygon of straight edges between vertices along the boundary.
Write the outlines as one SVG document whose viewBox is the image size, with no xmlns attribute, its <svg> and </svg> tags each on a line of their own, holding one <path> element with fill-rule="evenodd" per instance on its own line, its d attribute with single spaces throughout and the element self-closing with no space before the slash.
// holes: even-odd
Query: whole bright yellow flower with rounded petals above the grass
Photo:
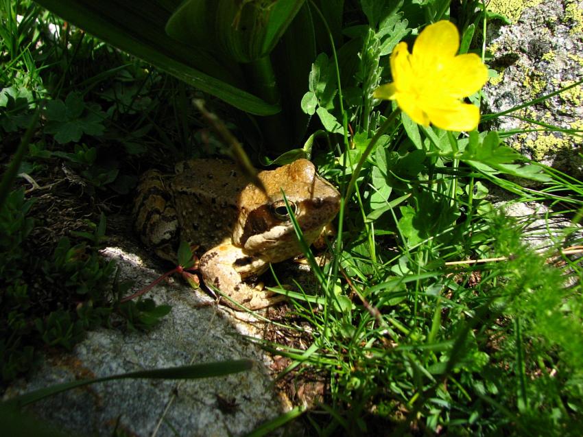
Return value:
<svg viewBox="0 0 583 437">
<path fill-rule="evenodd" d="M 390 64 L 393 82 L 374 91 L 377 99 L 396 100 L 398 107 L 423 126 L 474 130 L 479 108 L 462 102 L 488 80 L 488 69 L 476 54 L 455 55 L 460 35 L 449 21 L 428 25 L 417 37 L 413 53 L 398 43 Z"/>
</svg>

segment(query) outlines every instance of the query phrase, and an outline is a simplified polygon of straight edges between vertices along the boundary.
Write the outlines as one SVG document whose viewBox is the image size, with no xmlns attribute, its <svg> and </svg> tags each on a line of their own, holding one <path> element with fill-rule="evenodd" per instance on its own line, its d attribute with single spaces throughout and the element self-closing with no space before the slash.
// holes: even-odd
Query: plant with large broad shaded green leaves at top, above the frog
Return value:
<svg viewBox="0 0 583 437">
<path fill-rule="evenodd" d="M 305 133 L 305 117 L 295 108 L 301 94 L 290 86 L 297 80 L 293 73 L 307 73 L 309 46 L 315 45 L 304 0 L 108 0 L 99 8 L 86 0 L 40 4 L 176 78 L 263 116 L 255 125 L 260 132 L 252 134 L 265 137 L 274 151 L 291 148 Z M 286 36 L 297 28 L 311 36 L 307 45 L 305 38 Z M 272 58 L 289 53 L 303 59 L 294 59 L 289 69 L 275 68 Z"/>
</svg>

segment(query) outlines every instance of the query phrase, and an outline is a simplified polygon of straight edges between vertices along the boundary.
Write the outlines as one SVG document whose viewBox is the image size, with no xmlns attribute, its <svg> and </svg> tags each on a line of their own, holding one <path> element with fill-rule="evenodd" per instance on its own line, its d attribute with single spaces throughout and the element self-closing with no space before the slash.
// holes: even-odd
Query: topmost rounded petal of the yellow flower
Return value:
<svg viewBox="0 0 583 437">
<path fill-rule="evenodd" d="M 451 58 L 460 47 L 460 33 L 450 21 L 430 24 L 419 34 L 413 45 L 413 56 L 420 58 Z"/>
</svg>

